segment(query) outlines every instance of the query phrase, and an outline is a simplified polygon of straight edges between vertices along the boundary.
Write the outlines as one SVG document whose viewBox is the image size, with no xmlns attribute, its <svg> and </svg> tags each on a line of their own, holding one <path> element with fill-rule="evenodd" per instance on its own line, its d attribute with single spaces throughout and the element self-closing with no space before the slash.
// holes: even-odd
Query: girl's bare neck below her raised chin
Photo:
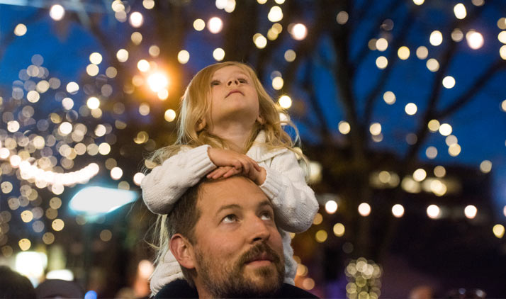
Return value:
<svg viewBox="0 0 506 299">
<path fill-rule="evenodd" d="M 247 152 L 247 142 L 253 130 L 253 125 L 244 125 L 243 123 L 224 123 L 221 125 L 213 125 L 210 133 L 216 135 L 235 152 Z"/>
</svg>

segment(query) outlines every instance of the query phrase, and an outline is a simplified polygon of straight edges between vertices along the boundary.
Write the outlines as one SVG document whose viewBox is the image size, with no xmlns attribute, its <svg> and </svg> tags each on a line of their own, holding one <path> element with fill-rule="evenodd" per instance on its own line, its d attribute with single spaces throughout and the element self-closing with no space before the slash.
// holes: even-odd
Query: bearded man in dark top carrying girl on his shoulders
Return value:
<svg viewBox="0 0 506 299">
<path fill-rule="evenodd" d="M 249 179 L 203 181 L 186 191 L 167 219 L 170 250 L 194 288 L 176 281 L 155 298 L 315 298 L 283 283 L 274 210 Z"/>
</svg>

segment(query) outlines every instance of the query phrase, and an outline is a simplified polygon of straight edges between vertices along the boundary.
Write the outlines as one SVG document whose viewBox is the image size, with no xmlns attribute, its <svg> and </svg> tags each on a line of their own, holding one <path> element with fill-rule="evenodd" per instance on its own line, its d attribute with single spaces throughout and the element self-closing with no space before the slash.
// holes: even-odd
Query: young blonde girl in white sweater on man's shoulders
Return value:
<svg viewBox="0 0 506 299">
<path fill-rule="evenodd" d="M 281 108 L 266 93 L 253 69 L 239 62 L 202 69 L 181 101 L 178 139 L 153 154 L 150 159 L 159 166 L 142 180 L 147 207 L 165 219 L 179 197 L 204 176 L 247 176 L 274 205 L 283 237 L 285 282 L 293 284 L 297 264 L 287 232 L 307 230 L 318 204 L 305 182 L 291 137 L 281 128 L 282 124 L 292 124 L 280 120 Z M 161 237 L 159 245 L 152 293 L 176 278 L 184 278 L 168 248 L 168 239 Z"/>
</svg>

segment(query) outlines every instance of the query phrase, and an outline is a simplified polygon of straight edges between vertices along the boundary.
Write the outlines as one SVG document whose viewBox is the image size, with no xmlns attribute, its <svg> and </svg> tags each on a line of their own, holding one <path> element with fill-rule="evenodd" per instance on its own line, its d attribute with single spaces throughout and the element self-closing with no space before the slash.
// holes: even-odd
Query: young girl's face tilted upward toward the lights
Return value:
<svg viewBox="0 0 506 299">
<path fill-rule="evenodd" d="M 253 125 L 259 117 L 257 89 L 249 74 L 235 65 L 218 69 L 210 81 L 210 125 L 240 121 Z"/>
</svg>

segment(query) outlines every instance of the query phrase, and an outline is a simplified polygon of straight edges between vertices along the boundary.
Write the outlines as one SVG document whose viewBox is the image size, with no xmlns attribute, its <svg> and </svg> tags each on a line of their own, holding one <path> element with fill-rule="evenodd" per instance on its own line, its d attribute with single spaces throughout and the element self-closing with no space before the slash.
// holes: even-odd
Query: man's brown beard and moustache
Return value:
<svg viewBox="0 0 506 299">
<path fill-rule="evenodd" d="M 266 252 L 276 267 L 275 271 L 269 266 L 254 269 L 257 282 L 245 277 L 244 268 L 247 261 Z M 196 260 L 200 266 L 198 276 L 206 289 L 215 298 L 266 298 L 273 296 L 281 288 L 285 272 L 284 260 L 274 252 L 269 245 L 259 243 L 244 252 L 233 264 L 223 264 L 196 252 Z"/>
</svg>

